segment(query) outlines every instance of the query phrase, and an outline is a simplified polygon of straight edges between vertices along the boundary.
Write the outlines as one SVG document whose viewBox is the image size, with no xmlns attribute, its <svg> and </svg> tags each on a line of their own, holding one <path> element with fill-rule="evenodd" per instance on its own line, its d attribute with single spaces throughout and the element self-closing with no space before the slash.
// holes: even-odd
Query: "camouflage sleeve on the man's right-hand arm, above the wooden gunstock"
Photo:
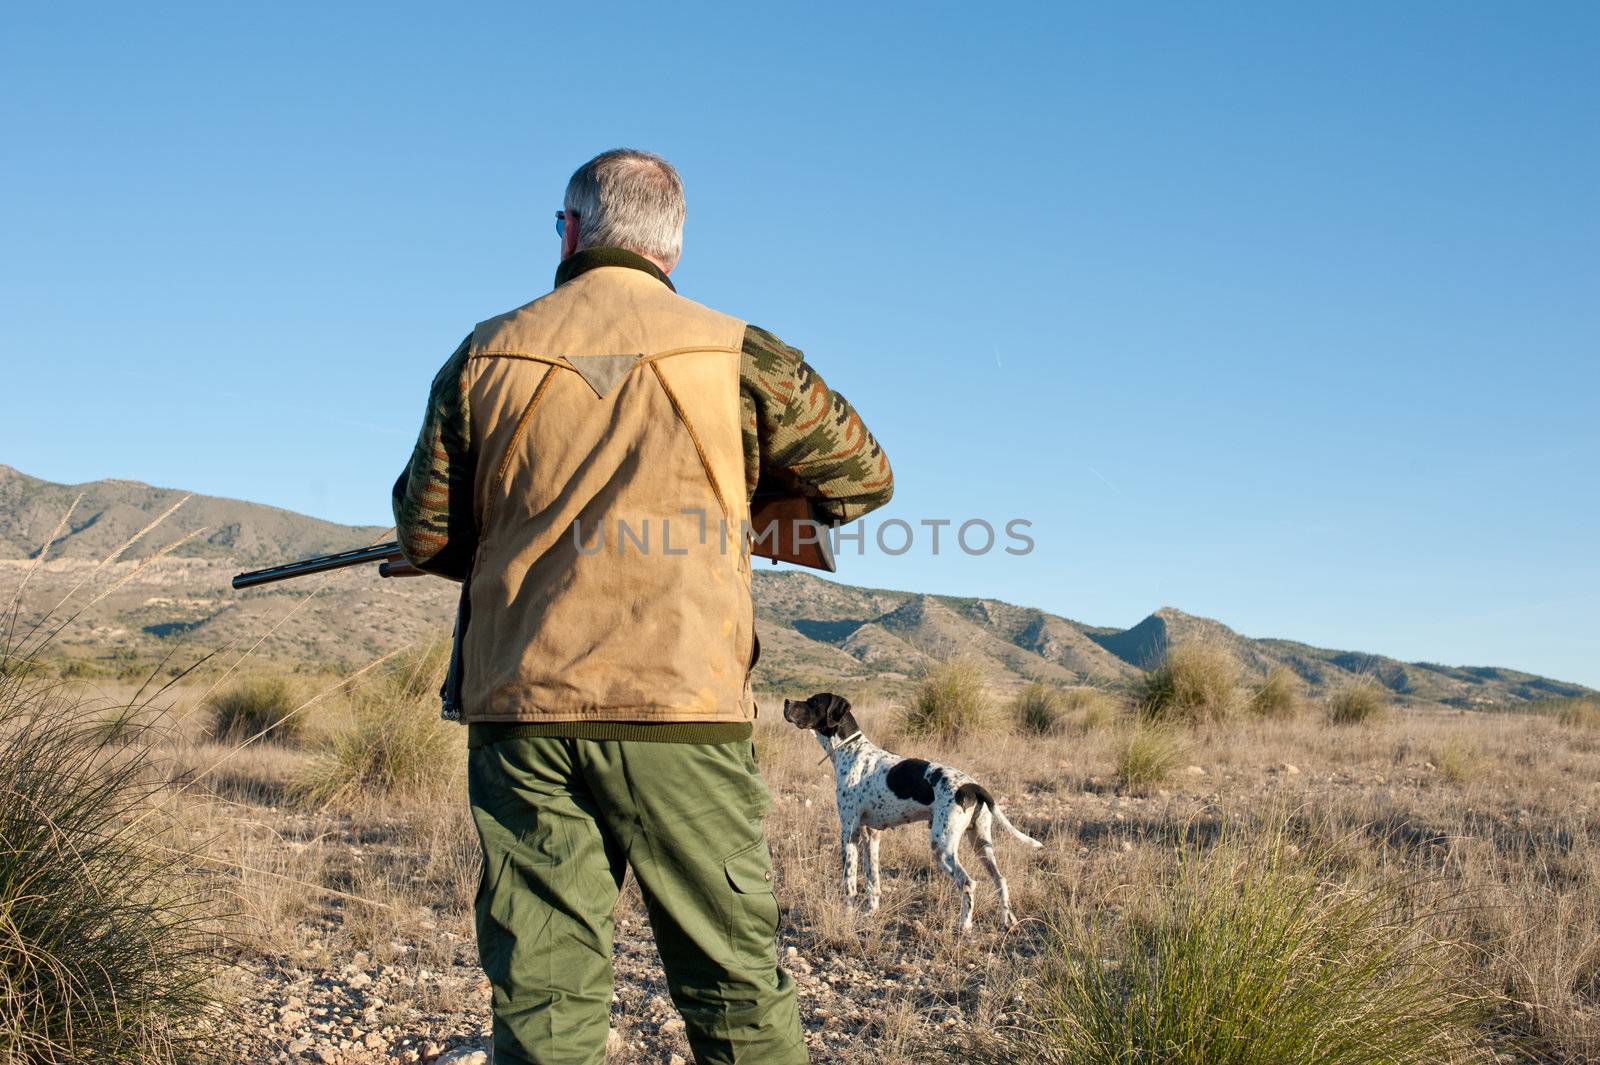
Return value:
<svg viewBox="0 0 1600 1065">
<path fill-rule="evenodd" d="M 854 521 L 894 494 L 888 456 L 856 409 L 766 329 L 744 329 L 739 392 L 747 493 L 776 481 L 835 521 Z"/>
</svg>

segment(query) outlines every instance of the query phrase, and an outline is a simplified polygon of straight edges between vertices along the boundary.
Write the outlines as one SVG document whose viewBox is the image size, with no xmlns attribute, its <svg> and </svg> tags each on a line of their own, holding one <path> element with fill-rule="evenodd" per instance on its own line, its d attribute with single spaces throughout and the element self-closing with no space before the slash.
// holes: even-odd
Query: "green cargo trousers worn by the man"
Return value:
<svg viewBox="0 0 1600 1065">
<path fill-rule="evenodd" d="M 629 867 L 694 1060 L 808 1060 L 778 967 L 771 800 L 749 740 L 510 737 L 472 750 L 469 793 L 496 1065 L 605 1062 L 611 910 Z"/>
</svg>

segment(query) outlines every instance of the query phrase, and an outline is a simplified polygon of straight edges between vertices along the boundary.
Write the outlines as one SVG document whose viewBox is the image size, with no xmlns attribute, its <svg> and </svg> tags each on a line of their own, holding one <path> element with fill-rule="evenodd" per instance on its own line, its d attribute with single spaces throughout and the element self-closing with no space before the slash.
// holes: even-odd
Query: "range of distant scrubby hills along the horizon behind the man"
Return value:
<svg viewBox="0 0 1600 1065">
<path fill-rule="evenodd" d="M 144 528 L 182 493 L 138 481 L 53 485 L 0 465 L 0 601 L 82 496 L 66 532 L 29 584 L 29 604 L 53 604 L 98 560 Z M 378 526 L 344 526 L 235 499 L 194 496 L 130 560 L 149 556 L 182 532 L 206 532 L 134 574 L 61 651 L 98 657 L 200 654 L 251 646 L 280 660 L 350 667 L 408 641 L 448 632 L 456 585 L 435 579 L 379 580 L 371 569 L 234 592 L 238 569 L 342 550 L 381 539 Z M 133 572 L 118 561 L 98 580 Z M 51 598 L 54 593 L 54 598 Z M 37 598 L 35 598 L 37 595 Z M 1365 675 L 1402 704 L 1491 707 L 1592 694 L 1581 684 L 1498 667 L 1400 662 L 1381 654 L 1328 651 L 1290 640 L 1242 636 L 1206 617 L 1162 608 L 1131 628 L 1086 625 L 1000 600 L 861 588 L 802 571 L 758 568 L 757 681 L 790 691 L 904 689 L 931 662 L 962 652 L 981 660 L 998 688 L 1040 678 L 1062 684 L 1120 684 L 1192 638 L 1222 643 L 1246 668 L 1286 665 L 1312 694 Z"/>
</svg>

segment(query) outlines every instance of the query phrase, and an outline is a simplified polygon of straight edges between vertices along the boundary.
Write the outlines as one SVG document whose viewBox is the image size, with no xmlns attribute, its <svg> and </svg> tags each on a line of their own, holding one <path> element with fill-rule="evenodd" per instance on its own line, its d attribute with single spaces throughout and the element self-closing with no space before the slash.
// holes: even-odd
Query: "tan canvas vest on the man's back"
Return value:
<svg viewBox="0 0 1600 1065">
<path fill-rule="evenodd" d="M 755 715 L 742 339 L 614 265 L 477 326 L 466 721 Z"/>
</svg>

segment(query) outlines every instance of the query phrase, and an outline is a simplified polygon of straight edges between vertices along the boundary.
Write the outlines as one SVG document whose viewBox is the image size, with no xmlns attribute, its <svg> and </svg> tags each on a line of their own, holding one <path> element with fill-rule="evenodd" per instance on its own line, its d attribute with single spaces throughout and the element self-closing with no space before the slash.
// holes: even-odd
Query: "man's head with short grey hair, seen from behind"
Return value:
<svg viewBox="0 0 1600 1065">
<path fill-rule="evenodd" d="M 672 163 L 635 149 L 602 152 L 566 182 L 578 248 L 626 248 L 672 265 L 683 249 L 683 179 Z"/>
</svg>

